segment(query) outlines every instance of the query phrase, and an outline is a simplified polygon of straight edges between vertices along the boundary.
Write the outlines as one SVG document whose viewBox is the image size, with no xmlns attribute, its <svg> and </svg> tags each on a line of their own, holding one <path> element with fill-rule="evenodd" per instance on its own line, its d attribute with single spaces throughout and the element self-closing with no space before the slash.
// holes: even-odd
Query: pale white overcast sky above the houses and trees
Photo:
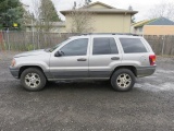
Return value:
<svg viewBox="0 0 174 131">
<path fill-rule="evenodd" d="M 22 0 L 25 4 L 30 5 L 32 0 Z M 52 0 L 58 11 L 67 10 L 73 7 L 74 1 L 77 3 L 83 3 L 85 0 Z M 91 0 L 92 2 L 101 1 L 117 9 L 128 9 L 129 5 L 133 7 L 135 11 L 139 13 L 136 14 L 136 21 L 141 21 L 148 17 L 149 10 L 161 2 L 173 2 L 174 0 Z M 63 20 L 64 17 L 61 16 Z"/>
</svg>

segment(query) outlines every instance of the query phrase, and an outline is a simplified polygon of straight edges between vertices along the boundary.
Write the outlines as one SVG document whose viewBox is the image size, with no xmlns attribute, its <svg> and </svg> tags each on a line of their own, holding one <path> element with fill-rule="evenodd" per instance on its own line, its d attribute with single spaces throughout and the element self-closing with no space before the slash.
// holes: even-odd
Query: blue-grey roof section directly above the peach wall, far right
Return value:
<svg viewBox="0 0 174 131">
<path fill-rule="evenodd" d="M 149 22 L 147 25 L 174 25 L 174 22 L 165 17 L 159 17 L 152 22 Z"/>
</svg>

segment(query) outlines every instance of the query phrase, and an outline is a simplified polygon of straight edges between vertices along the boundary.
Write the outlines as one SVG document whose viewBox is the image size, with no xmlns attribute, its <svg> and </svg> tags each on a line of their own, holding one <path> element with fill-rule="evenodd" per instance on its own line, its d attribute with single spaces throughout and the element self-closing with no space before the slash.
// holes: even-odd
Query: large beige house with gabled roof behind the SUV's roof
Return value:
<svg viewBox="0 0 174 131">
<path fill-rule="evenodd" d="M 137 13 L 137 11 L 116 9 L 102 2 L 94 2 L 78 11 L 92 13 L 94 33 L 130 33 L 132 16 Z M 61 11 L 66 19 L 66 32 L 70 32 L 72 26 L 71 12 L 72 10 Z"/>
</svg>

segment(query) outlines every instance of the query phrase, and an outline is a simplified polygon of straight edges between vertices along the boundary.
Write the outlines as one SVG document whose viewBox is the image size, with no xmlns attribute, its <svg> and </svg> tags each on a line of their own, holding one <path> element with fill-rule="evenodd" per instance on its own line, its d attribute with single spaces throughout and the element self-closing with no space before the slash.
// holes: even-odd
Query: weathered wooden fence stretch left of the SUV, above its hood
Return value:
<svg viewBox="0 0 174 131">
<path fill-rule="evenodd" d="M 0 50 L 36 50 L 53 47 L 75 34 L 67 33 L 30 33 L 30 32 L 3 32 L 0 33 Z"/>
</svg>

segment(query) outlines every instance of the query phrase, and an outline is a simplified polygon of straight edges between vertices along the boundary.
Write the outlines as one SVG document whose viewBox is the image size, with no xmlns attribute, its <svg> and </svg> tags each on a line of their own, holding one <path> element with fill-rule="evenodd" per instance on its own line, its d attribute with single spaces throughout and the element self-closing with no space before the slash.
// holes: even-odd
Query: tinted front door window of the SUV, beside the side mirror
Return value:
<svg viewBox="0 0 174 131">
<path fill-rule="evenodd" d="M 60 50 L 64 56 L 86 56 L 88 38 L 75 39 L 63 46 Z"/>
</svg>

